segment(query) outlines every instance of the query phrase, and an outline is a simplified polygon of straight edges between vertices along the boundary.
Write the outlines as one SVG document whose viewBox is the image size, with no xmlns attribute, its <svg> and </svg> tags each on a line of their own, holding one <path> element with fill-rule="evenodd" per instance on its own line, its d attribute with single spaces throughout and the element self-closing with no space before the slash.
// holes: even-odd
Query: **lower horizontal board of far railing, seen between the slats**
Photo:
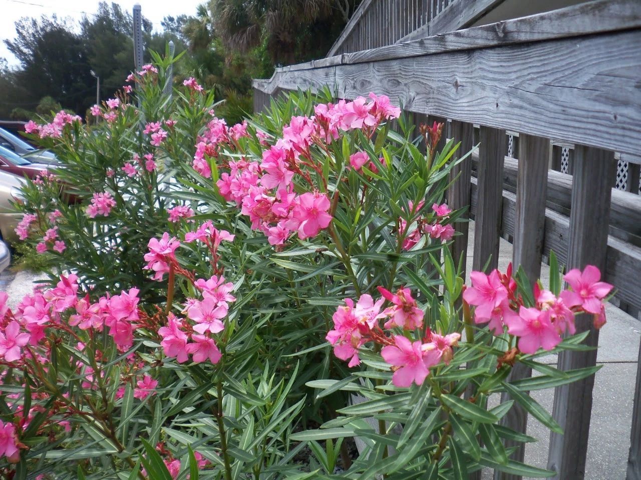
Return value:
<svg viewBox="0 0 641 480">
<path fill-rule="evenodd" d="M 551 172 L 550 172 L 551 173 Z M 472 202 L 470 211 L 476 216 L 476 197 L 478 195 L 476 177 L 472 177 Z M 501 213 L 501 234 L 504 238 L 514 235 L 516 195 L 503 190 L 503 209 Z M 545 209 L 545 230 L 543 253 L 549 255 L 554 250 L 560 264 L 567 264 L 567 246 L 570 219 L 550 208 Z M 615 285 L 617 298 L 636 308 L 641 308 L 641 248 L 625 243 L 613 236 L 608 237 L 607 264 L 604 281 Z"/>
</svg>

